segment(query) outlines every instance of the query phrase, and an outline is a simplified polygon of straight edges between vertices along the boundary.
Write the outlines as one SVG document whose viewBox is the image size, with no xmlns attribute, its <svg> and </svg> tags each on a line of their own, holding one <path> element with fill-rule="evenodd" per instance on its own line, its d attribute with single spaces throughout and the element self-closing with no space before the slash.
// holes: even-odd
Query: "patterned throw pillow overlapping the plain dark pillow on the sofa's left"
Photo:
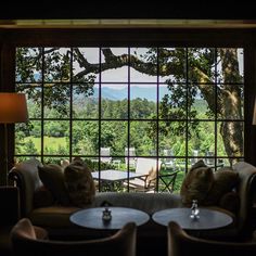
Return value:
<svg viewBox="0 0 256 256">
<path fill-rule="evenodd" d="M 91 170 L 82 161 L 73 161 L 64 169 L 64 177 L 72 205 L 85 207 L 92 203 L 95 195 L 94 181 Z"/>
</svg>

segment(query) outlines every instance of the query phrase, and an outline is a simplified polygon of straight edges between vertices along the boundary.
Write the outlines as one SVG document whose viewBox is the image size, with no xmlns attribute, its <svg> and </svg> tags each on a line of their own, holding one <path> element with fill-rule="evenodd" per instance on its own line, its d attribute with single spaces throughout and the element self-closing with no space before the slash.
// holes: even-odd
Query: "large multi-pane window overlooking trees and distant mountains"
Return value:
<svg viewBox="0 0 256 256">
<path fill-rule="evenodd" d="M 244 157 L 243 77 L 238 48 L 16 48 L 29 123 L 15 127 L 15 157 L 232 165 Z"/>
</svg>

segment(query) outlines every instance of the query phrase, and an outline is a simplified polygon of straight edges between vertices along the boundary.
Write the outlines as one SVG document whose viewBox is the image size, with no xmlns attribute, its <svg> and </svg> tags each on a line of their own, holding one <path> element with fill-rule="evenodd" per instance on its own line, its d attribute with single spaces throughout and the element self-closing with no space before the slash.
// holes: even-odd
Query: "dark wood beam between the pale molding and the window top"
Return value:
<svg viewBox="0 0 256 256">
<path fill-rule="evenodd" d="M 41 28 L 9 29 L 0 40 L 15 46 L 175 46 L 241 47 L 252 44 L 255 29 L 185 28 Z"/>
</svg>

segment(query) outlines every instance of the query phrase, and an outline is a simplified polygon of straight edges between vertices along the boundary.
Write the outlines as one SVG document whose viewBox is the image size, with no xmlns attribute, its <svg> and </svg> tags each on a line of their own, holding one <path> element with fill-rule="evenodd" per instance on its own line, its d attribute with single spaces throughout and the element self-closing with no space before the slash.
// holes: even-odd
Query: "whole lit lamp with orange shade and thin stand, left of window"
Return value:
<svg viewBox="0 0 256 256">
<path fill-rule="evenodd" d="M 8 184 L 9 148 L 8 124 L 26 123 L 28 120 L 26 95 L 16 92 L 0 92 L 0 124 L 4 125 L 4 170 Z"/>
</svg>

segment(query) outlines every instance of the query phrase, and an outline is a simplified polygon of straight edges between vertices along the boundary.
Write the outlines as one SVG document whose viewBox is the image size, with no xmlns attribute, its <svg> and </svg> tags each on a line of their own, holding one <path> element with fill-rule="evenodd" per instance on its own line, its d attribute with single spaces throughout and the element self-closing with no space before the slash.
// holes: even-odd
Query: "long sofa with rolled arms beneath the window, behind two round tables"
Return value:
<svg viewBox="0 0 256 256">
<path fill-rule="evenodd" d="M 69 221 L 71 214 L 75 213 L 79 208 L 72 206 L 51 205 L 47 207 L 34 206 L 34 193 L 38 188 L 42 185 L 38 176 L 38 165 L 41 165 L 38 161 L 27 161 L 20 163 L 17 166 L 11 169 L 9 174 L 10 182 L 15 183 L 20 188 L 21 192 L 21 213 L 22 217 L 28 217 L 34 225 L 47 228 L 50 235 L 57 239 L 65 238 L 92 238 L 99 235 L 99 232 L 93 230 L 87 230 L 79 228 Z M 245 235 L 251 232 L 249 220 L 252 218 L 252 205 L 253 205 L 253 191 L 255 190 L 255 177 L 256 167 L 245 162 L 236 163 L 233 166 L 234 170 L 239 172 L 240 182 L 236 191 L 240 196 L 240 208 L 238 215 L 225 210 L 234 217 L 234 223 L 223 230 L 217 230 L 217 232 L 207 232 L 209 235 L 221 236 L 238 236 Z M 132 207 L 144 210 L 150 216 L 157 210 L 181 207 L 181 197 L 179 194 L 170 193 L 143 193 L 143 192 L 99 192 L 91 205 L 88 207 L 102 206 L 104 202 L 108 202 L 113 206 Z M 148 241 L 151 238 L 153 241 L 157 239 L 166 242 L 166 227 L 154 223 L 151 219 L 148 223 L 139 227 L 138 238 Z M 155 243 L 155 242 L 154 242 Z M 152 249 L 149 249 L 152 252 Z M 158 252 L 158 248 L 157 248 Z"/>
</svg>

